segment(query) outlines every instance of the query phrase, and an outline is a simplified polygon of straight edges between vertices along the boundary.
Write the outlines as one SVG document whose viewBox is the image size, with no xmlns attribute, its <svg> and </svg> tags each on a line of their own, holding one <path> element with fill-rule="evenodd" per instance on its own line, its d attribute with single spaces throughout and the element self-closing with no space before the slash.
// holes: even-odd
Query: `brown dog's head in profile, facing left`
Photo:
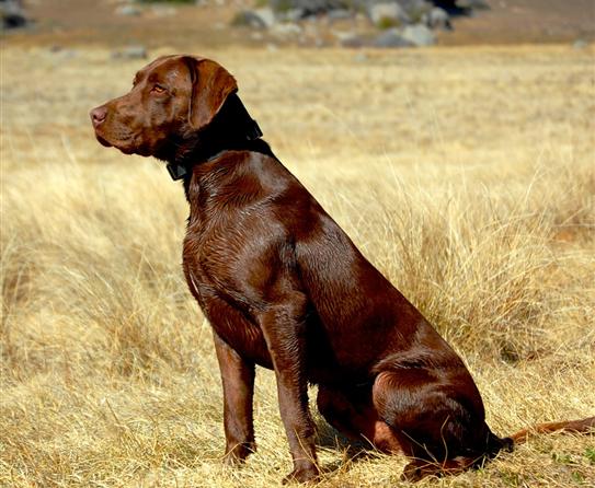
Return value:
<svg viewBox="0 0 595 488">
<path fill-rule="evenodd" d="M 210 59 L 164 56 L 136 73 L 126 95 L 93 108 L 91 121 L 103 146 L 156 155 L 206 128 L 237 90 L 233 77 Z"/>
</svg>

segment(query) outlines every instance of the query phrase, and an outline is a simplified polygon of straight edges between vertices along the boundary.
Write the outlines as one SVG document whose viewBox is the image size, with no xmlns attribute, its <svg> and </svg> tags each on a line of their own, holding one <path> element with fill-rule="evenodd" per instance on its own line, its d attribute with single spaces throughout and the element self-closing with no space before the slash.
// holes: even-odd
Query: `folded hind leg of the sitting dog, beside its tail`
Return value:
<svg viewBox="0 0 595 488">
<path fill-rule="evenodd" d="M 480 465 L 505 444 L 483 418 L 483 405 L 466 376 L 437 376 L 424 368 L 381 371 L 373 386 L 373 403 L 411 463 L 403 478 L 417 480 Z M 470 377 L 470 376 L 469 376 Z"/>
</svg>

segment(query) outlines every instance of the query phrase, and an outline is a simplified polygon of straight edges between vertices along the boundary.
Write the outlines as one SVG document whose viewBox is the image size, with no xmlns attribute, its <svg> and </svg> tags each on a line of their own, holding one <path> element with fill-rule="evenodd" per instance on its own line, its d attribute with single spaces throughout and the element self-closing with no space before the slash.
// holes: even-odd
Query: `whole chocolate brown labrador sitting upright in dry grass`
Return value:
<svg viewBox="0 0 595 488">
<path fill-rule="evenodd" d="M 183 179 L 184 272 L 213 326 L 227 460 L 255 451 L 255 364 L 276 374 L 287 480 L 319 475 L 308 383 L 331 426 L 409 456 L 405 479 L 478 466 L 522 441 L 528 431 L 490 430 L 462 360 L 274 156 L 237 91 L 215 61 L 165 56 L 91 112 L 102 144 L 153 155 Z"/>
</svg>

